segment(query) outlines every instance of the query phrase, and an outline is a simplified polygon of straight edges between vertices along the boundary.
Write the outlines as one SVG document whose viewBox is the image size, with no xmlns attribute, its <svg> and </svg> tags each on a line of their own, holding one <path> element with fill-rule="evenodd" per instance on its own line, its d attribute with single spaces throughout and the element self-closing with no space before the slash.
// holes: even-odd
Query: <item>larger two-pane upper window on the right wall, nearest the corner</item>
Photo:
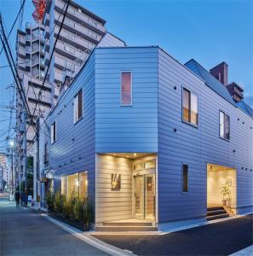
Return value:
<svg viewBox="0 0 253 256">
<path fill-rule="evenodd" d="M 188 123 L 198 125 L 198 96 L 186 88 L 183 88 L 182 118 Z"/>
</svg>

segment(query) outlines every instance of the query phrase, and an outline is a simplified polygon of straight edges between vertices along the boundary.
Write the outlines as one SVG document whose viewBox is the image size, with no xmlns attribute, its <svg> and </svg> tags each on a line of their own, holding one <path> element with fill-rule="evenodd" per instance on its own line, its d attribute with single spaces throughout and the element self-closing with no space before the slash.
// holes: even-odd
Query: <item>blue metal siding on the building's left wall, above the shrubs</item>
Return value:
<svg viewBox="0 0 253 256">
<path fill-rule="evenodd" d="M 73 98 L 81 88 L 83 88 L 83 118 L 74 124 Z M 55 170 L 55 176 L 88 171 L 89 198 L 94 202 L 95 55 L 90 56 L 86 67 L 60 98 L 54 112 L 49 116 L 49 126 L 55 120 L 56 142 L 50 145 L 49 165 Z"/>
</svg>

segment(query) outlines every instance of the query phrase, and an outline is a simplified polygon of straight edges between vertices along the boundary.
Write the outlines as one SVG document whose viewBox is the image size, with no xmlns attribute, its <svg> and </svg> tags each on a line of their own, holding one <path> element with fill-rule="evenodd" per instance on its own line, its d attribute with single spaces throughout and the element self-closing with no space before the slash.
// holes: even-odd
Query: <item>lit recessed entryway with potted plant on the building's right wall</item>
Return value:
<svg viewBox="0 0 253 256">
<path fill-rule="evenodd" d="M 235 210 L 236 191 L 236 169 L 207 165 L 207 207 L 227 206 Z"/>
</svg>

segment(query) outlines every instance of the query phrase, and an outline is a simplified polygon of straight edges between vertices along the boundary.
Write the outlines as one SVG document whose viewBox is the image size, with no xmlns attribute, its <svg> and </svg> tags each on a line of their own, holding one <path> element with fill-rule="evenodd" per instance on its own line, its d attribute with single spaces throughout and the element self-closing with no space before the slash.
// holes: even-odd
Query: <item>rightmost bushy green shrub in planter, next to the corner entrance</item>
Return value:
<svg viewBox="0 0 253 256">
<path fill-rule="evenodd" d="M 75 218 L 83 222 L 84 225 L 89 225 L 92 219 L 92 209 L 90 207 L 88 199 L 83 199 L 80 197 L 76 198 L 74 205 Z"/>
</svg>

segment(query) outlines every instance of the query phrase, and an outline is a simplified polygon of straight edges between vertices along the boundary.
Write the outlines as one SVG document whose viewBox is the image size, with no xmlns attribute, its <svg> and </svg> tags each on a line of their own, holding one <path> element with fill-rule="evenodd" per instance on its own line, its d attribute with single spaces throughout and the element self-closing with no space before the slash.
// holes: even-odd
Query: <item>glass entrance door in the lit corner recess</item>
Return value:
<svg viewBox="0 0 253 256">
<path fill-rule="evenodd" d="M 135 180 L 135 218 L 155 218 L 155 174 L 134 177 Z"/>
</svg>

